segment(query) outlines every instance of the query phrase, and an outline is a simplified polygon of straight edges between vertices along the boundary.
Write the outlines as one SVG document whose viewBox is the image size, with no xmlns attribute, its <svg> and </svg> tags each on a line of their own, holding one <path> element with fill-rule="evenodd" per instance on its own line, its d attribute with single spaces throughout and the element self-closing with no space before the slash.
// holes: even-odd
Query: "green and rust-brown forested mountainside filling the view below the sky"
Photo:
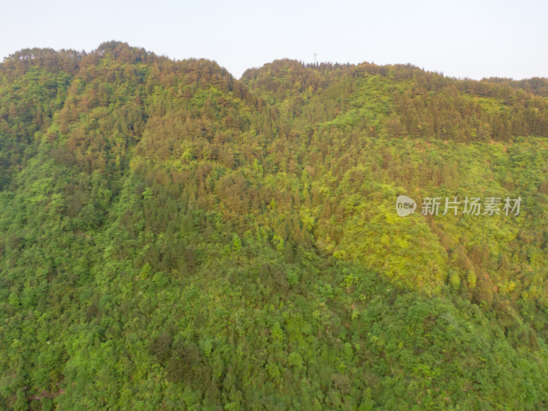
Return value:
<svg viewBox="0 0 548 411">
<path fill-rule="evenodd" d="M 0 408 L 548 410 L 547 160 L 547 79 L 14 53 Z"/>
</svg>

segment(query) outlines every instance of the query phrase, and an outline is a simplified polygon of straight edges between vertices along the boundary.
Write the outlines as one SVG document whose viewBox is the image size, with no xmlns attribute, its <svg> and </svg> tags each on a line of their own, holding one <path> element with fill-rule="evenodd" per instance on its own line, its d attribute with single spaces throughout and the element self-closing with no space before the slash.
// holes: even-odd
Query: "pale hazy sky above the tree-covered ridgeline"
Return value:
<svg viewBox="0 0 548 411">
<path fill-rule="evenodd" d="M 9 1 L 0 59 L 121 40 L 240 77 L 276 58 L 411 63 L 453 77 L 548 77 L 548 1 Z"/>
</svg>

